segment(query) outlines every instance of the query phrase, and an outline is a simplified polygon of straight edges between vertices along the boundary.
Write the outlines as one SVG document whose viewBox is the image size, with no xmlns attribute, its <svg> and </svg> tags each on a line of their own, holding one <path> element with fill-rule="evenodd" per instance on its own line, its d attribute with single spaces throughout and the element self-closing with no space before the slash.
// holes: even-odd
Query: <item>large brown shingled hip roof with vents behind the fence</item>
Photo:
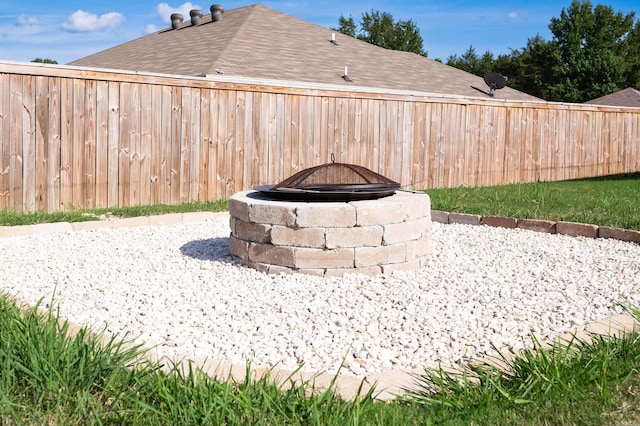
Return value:
<svg viewBox="0 0 640 426">
<path fill-rule="evenodd" d="M 335 37 L 335 43 L 332 42 Z M 261 4 L 205 15 L 69 65 L 192 76 L 249 78 L 488 97 L 481 77 L 415 53 L 384 49 Z M 349 80 L 343 78 L 345 67 Z M 505 87 L 495 99 L 540 99 Z"/>
</svg>

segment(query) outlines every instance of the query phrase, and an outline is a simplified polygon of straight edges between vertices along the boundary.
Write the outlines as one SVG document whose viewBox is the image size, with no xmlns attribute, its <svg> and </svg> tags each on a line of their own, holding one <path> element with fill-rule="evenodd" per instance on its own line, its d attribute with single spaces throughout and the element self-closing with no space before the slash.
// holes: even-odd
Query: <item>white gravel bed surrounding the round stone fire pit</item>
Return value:
<svg viewBox="0 0 640 426">
<path fill-rule="evenodd" d="M 225 217 L 0 238 L 0 290 L 139 336 L 158 356 L 364 376 L 481 358 L 640 306 L 640 245 L 432 224 L 428 265 L 269 276 L 234 263 Z M 55 296 L 54 296 L 55 293 Z"/>
</svg>

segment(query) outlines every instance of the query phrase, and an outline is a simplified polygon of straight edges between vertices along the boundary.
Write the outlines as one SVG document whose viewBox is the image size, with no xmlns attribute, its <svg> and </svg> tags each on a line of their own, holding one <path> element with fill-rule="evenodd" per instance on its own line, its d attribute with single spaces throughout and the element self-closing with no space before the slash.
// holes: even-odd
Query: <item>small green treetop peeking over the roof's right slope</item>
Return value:
<svg viewBox="0 0 640 426">
<path fill-rule="evenodd" d="M 385 49 L 427 56 L 416 24 L 411 19 L 396 22 L 387 12 L 377 10 L 372 10 L 371 13 L 365 12 L 362 14 L 359 26 L 356 25 L 353 17 L 340 16 L 338 28 L 334 30 Z"/>
</svg>

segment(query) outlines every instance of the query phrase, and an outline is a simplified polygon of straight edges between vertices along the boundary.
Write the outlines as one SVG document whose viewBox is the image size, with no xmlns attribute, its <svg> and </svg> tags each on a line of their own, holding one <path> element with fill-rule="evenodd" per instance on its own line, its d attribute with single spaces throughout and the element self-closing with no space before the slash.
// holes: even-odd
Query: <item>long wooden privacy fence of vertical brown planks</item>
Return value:
<svg viewBox="0 0 640 426">
<path fill-rule="evenodd" d="M 0 210 L 227 198 L 336 161 L 416 189 L 640 171 L 640 109 L 0 63 Z"/>
</svg>

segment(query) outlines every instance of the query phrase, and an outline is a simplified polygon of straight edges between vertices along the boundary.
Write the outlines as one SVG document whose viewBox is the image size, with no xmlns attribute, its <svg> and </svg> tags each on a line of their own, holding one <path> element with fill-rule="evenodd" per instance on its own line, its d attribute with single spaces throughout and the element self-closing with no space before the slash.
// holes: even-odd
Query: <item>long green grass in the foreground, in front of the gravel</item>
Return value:
<svg viewBox="0 0 640 426">
<path fill-rule="evenodd" d="M 637 310 L 631 310 L 636 319 Z M 640 334 L 539 346 L 459 375 L 425 371 L 391 402 L 375 390 L 345 401 L 309 383 L 211 379 L 141 360 L 131 342 L 81 330 L 51 310 L 0 296 L 0 421 L 4 425 L 548 425 L 640 422 Z M 126 337 L 126 336 L 125 336 Z M 170 366 L 171 367 L 171 366 Z M 627 422 L 627 423 L 625 423 Z"/>
</svg>

